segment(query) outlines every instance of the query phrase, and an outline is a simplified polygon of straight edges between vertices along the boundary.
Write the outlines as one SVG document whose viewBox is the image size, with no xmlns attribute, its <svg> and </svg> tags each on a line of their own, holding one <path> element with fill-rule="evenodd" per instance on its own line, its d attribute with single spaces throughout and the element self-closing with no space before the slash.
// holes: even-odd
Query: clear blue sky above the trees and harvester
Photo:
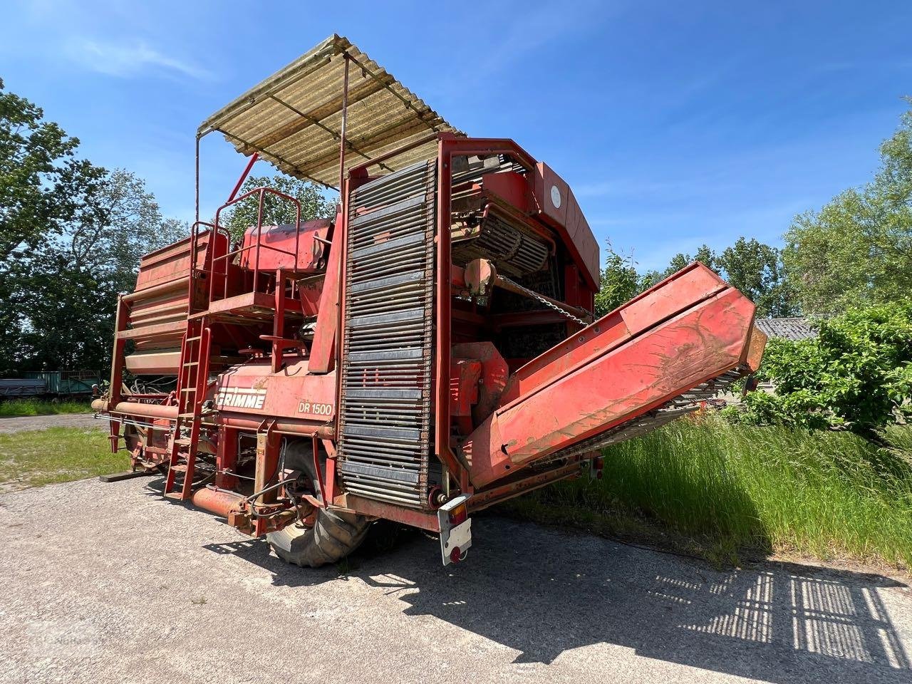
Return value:
<svg viewBox="0 0 912 684">
<path fill-rule="evenodd" d="M 900 0 L 443 7 L 13 0 L 0 77 L 191 218 L 200 121 L 338 33 L 457 128 L 547 161 L 642 269 L 742 234 L 779 244 L 795 213 L 870 178 L 912 94 Z M 244 161 L 204 140 L 205 211 Z"/>
</svg>

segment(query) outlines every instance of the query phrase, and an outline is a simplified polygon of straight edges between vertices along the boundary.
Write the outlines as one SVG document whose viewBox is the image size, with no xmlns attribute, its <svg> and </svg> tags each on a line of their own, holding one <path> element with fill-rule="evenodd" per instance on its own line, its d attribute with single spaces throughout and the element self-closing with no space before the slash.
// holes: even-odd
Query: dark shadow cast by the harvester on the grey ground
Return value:
<svg viewBox="0 0 912 684">
<path fill-rule="evenodd" d="M 347 567 L 285 565 L 264 540 L 208 544 L 260 565 L 283 586 L 359 578 L 433 616 L 550 663 L 593 644 L 772 682 L 912 681 L 876 587 L 881 575 L 764 564 L 717 572 L 700 562 L 531 523 L 477 521 L 470 558 L 442 567 L 435 539 L 368 541 Z M 381 535 L 382 536 L 382 535 Z M 474 556 L 472 558 L 472 555 Z"/>
</svg>

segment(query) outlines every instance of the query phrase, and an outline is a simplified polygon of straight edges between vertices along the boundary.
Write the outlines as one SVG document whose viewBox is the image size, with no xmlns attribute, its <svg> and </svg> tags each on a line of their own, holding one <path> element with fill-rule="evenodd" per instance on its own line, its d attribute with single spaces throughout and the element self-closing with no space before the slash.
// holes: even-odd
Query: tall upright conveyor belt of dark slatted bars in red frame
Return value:
<svg viewBox="0 0 912 684">
<path fill-rule="evenodd" d="M 436 161 L 351 192 L 338 472 L 352 494 L 427 505 Z"/>
</svg>

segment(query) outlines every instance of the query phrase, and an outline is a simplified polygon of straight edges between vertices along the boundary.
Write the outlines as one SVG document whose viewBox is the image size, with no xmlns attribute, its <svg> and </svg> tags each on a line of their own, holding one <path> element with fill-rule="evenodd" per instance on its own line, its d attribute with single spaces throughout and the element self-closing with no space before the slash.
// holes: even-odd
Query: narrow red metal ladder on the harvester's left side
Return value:
<svg viewBox="0 0 912 684">
<path fill-rule="evenodd" d="M 171 435 L 168 477 L 164 495 L 183 501 L 192 496 L 193 471 L 200 440 L 200 413 L 209 382 L 211 356 L 210 328 L 205 316 L 191 317 L 181 346 L 181 373 L 178 376 L 178 414 Z M 189 434 L 185 435 L 189 428 Z M 178 483 L 178 474 L 181 482 Z M 179 488 L 180 486 L 180 488 Z"/>
</svg>

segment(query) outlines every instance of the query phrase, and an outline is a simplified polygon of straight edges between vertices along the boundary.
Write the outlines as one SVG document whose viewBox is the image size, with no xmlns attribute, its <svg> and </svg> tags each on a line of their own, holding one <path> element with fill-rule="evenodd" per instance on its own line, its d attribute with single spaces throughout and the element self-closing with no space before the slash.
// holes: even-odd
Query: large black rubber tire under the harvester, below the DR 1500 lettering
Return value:
<svg viewBox="0 0 912 684">
<path fill-rule="evenodd" d="M 313 482 L 316 495 L 322 496 L 310 450 L 309 440 L 288 443 L 285 468 L 305 472 Z M 278 532 L 266 534 L 266 540 L 286 563 L 320 567 L 337 563 L 357 549 L 367 536 L 370 523 L 368 517 L 358 513 L 320 508 L 316 511 L 313 527 L 292 523 Z"/>
</svg>

